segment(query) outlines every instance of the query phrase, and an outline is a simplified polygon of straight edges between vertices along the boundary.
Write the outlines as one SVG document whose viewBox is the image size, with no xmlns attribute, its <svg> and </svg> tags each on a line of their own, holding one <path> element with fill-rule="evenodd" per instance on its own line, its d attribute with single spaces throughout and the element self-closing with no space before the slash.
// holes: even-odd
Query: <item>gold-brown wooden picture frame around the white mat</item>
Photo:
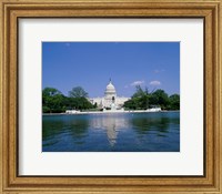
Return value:
<svg viewBox="0 0 222 194">
<path fill-rule="evenodd" d="M 2 0 L 0 193 L 222 193 L 221 1 Z M 203 18 L 203 176 L 18 175 L 19 18 Z"/>
</svg>

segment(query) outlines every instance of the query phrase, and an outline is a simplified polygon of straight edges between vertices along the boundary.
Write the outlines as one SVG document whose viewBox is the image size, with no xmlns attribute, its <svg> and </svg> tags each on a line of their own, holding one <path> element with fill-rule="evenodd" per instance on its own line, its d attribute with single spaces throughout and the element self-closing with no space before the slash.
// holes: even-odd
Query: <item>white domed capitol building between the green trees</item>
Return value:
<svg viewBox="0 0 222 194">
<path fill-rule="evenodd" d="M 120 110 L 128 100 L 130 100 L 130 98 L 117 95 L 115 88 L 110 80 L 104 91 L 104 96 L 90 99 L 90 102 L 92 104 L 97 103 L 100 109 Z"/>
</svg>

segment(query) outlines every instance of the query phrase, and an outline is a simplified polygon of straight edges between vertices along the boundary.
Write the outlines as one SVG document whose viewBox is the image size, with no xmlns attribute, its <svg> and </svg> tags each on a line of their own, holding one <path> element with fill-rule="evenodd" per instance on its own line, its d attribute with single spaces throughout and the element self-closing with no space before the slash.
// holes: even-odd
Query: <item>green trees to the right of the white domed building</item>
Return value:
<svg viewBox="0 0 222 194">
<path fill-rule="evenodd" d="M 155 90 L 149 92 L 148 88 L 144 90 L 135 86 L 137 91 L 132 98 L 124 103 L 124 108 L 129 110 L 147 110 L 153 106 L 160 106 L 162 110 L 180 110 L 180 95 L 168 95 L 164 90 Z"/>
</svg>

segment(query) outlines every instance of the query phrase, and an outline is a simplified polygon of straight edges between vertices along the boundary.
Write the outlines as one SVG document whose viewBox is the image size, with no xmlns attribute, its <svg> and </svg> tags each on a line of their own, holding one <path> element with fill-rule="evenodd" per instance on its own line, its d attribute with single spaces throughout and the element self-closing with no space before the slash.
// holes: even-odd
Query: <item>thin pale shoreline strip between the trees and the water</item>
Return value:
<svg viewBox="0 0 222 194">
<path fill-rule="evenodd" d="M 164 113 L 164 112 L 180 112 L 180 110 L 172 111 L 85 111 L 75 113 L 42 113 L 42 115 L 80 115 L 80 114 L 117 114 L 117 113 Z"/>
</svg>

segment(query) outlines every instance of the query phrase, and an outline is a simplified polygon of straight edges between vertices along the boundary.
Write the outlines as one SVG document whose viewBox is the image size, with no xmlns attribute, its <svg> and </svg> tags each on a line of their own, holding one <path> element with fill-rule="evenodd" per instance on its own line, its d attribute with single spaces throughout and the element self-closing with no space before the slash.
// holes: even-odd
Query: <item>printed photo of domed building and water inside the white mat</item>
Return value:
<svg viewBox="0 0 222 194">
<path fill-rule="evenodd" d="M 42 42 L 42 152 L 180 152 L 179 69 L 180 42 Z"/>
</svg>

